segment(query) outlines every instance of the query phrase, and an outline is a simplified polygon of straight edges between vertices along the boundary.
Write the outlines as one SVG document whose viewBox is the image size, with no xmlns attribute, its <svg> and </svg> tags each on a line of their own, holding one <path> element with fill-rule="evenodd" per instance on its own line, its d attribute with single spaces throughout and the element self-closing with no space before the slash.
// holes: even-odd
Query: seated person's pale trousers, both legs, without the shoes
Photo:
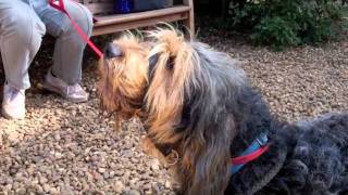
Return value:
<svg viewBox="0 0 348 195">
<path fill-rule="evenodd" d="M 73 20 L 90 36 L 90 12 L 71 0 L 64 2 Z M 28 67 L 46 30 L 57 38 L 52 73 L 69 84 L 80 81 L 86 43 L 67 16 L 48 5 L 48 0 L 0 0 L 0 52 L 5 80 L 11 87 L 30 87 Z"/>
</svg>

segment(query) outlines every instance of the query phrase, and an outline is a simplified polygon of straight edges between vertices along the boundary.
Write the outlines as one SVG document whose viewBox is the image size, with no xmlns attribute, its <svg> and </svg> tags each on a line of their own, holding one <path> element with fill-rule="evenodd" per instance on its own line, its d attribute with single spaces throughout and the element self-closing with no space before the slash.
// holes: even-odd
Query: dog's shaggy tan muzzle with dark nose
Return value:
<svg viewBox="0 0 348 195">
<path fill-rule="evenodd" d="M 100 61 L 99 93 L 103 108 L 127 119 L 142 106 L 148 82 L 146 43 L 128 34 L 110 42 Z"/>
</svg>

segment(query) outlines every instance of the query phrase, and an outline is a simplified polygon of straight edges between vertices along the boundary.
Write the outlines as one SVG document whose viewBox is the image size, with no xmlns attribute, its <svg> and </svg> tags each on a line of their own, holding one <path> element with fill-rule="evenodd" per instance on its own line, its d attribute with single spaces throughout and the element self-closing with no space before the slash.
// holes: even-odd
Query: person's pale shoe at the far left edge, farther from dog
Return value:
<svg viewBox="0 0 348 195">
<path fill-rule="evenodd" d="M 25 117 L 25 90 L 3 87 L 2 115 L 8 119 L 23 119 Z"/>
</svg>

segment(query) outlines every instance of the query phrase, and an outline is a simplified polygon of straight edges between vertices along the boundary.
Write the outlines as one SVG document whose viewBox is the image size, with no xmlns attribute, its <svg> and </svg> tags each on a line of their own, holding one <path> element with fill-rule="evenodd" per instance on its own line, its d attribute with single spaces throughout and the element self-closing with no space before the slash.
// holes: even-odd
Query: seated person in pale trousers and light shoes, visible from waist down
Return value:
<svg viewBox="0 0 348 195">
<path fill-rule="evenodd" d="M 90 36 L 91 13 L 72 0 L 64 2 L 71 17 Z M 5 74 L 2 115 L 9 119 L 25 117 L 25 90 L 30 87 L 28 67 L 46 31 L 57 40 L 45 88 L 75 103 L 88 100 L 79 84 L 86 43 L 69 17 L 51 8 L 48 0 L 0 0 L 0 52 Z"/>
</svg>

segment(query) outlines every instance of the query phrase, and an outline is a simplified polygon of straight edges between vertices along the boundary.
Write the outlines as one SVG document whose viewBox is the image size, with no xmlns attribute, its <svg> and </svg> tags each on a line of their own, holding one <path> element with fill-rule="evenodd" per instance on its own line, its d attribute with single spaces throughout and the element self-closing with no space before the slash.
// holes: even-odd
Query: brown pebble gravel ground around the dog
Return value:
<svg viewBox="0 0 348 195">
<path fill-rule="evenodd" d="M 214 29 L 200 39 L 243 61 L 272 112 L 288 120 L 348 108 L 346 40 L 275 53 Z M 174 194 L 169 168 L 141 150 L 141 125 L 135 119 L 115 130 L 113 119 L 99 110 L 96 62 L 86 60 L 87 103 L 40 90 L 50 53 L 44 47 L 30 68 L 26 119 L 0 117 L 0 195 Z"/>
</svg>

